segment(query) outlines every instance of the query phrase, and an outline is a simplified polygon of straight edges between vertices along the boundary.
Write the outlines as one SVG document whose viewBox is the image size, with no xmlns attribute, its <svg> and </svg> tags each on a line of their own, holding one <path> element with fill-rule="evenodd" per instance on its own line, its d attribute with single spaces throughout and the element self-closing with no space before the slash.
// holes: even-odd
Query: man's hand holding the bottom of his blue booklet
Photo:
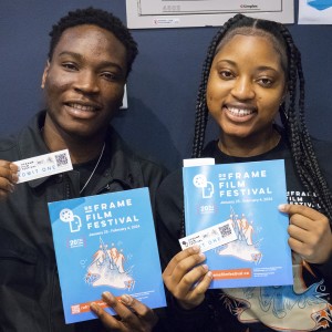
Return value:
<svg viewBox="0 0 332 332">
<path fill-rule="evenodd" d="M 131 295 L 125 294 L 117 300 L 110 292 L 104 292 L 102 297 L 104 302 L 117 313 L 118 319 L 104 311 L 96 303 L 92 303 L 90 308 L 107 331 L 151 332 L 158 321 L 153 310 Z"/>
</svg>

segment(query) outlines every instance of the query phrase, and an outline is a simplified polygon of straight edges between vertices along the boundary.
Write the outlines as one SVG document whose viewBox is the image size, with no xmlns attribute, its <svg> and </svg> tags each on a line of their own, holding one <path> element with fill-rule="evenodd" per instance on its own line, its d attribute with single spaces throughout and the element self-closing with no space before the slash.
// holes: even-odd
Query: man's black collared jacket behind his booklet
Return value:
<svg viewBox="0 0 332 332">
<path fill-rule="evenodd" d="M 0 141 L 0 159 L 20 160 L 49 153 L 39 113 L 18 135 Z M 94 174 L 86 195 L 149 187 L 164 177 L 156 164 L 135 155 L 110 127 L 102 173 Z M 0 331 L 100 331 L 98 320 L 64 324 L 48 203 L 75 198 L 80 173 L 71 170 L 19 184 L 0 203 Z"/>
</svg>

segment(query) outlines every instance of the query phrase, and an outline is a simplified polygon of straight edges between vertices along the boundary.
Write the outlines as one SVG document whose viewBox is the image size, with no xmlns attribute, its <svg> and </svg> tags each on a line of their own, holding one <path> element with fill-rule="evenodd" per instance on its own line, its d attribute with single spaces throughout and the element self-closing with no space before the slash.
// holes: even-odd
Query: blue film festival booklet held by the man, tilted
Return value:
<svg viewBox="0 0 332 332">
<path fill-rule="evenodd" d="M 90 303 L 105 308 L 104 291 L 166 305 L 148 188 L 49 203 L 49 212 L 66 323 L 95 319 Z"/>
</svg>

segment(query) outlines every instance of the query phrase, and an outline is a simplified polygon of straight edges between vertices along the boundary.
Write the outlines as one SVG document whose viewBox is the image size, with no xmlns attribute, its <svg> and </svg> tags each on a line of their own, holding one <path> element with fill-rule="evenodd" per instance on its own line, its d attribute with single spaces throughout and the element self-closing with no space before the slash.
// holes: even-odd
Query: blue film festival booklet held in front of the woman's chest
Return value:
<svg viewBox="0 0 332 332">
<path fill-rule="evenodd" d="M 205 252 L 210 288 L 292 284 L 284 162 L 267 160 L 184 167 L 186 235 L 222 221 L 220 237 L 234 227 L 236 240 Z"/>
</svg>

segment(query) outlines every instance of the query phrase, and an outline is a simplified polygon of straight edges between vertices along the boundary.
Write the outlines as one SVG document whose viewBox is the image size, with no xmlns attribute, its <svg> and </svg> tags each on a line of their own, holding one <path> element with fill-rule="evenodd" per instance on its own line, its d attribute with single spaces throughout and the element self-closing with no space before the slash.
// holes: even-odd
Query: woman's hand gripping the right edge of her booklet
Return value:
<svg viewBox="0 0 332 332">
<path fill-rule="evenodd" d="M 332 235 L 329 219 L 303 205 L 281 205 L 279 210 L 288 214 L 290 225 L 289 246 L 310 263 L 324 263 L 332 253 Z"/>
</svg>

